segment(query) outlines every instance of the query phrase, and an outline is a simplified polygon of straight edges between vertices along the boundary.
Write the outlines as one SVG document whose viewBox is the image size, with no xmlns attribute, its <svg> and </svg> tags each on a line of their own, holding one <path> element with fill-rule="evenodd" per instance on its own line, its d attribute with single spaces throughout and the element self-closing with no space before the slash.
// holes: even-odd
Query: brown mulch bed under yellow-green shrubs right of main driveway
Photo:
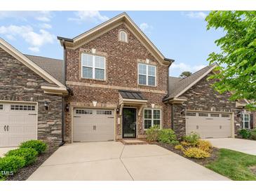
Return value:
<svg viewBox="0 0 256 192">
<path fill-rule="evenodd" d="M 214 160 L 217 160 L 218 151 L 219 151 L 219 149 L 214 147 L 212 153 L 210 153 L 209 158 L 189 158 L 189 157 L 184 156 L 183 152 L 180 149 L 175 149 L 173 145 L 161 144 L 161 143 L 156 143 L 156 144 L 163 147 L 164 149 L 172 151 L 173 153 L 177 153 L 178 155 L 183 156 L 184 158 L 192 160 L 195 163 L 198 163 L 198 164 L 203 165 L 203 166 L 213 162 Z"/>
</svg>

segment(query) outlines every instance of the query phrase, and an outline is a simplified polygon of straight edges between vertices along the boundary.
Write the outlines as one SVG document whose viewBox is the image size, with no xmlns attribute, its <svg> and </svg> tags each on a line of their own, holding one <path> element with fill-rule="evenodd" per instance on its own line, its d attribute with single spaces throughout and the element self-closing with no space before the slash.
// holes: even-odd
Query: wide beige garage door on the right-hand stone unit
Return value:
<svg viewBox="0 0 256 192">
<path fill-rule="evenodd" d="M 187 111 L 186 132 L 197 132 L 201 138 L 231 137 L 231 114 Z"/>
</svg>

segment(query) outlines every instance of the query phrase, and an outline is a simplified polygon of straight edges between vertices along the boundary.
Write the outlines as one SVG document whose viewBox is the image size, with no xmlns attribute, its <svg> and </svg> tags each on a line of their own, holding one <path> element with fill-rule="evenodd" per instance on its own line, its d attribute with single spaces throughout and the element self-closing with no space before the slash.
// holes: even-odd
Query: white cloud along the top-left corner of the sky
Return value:
<svg viewBox="0 0 256 192">
<path fill-rule="evenodd" d="M 5 18 L 15 18 L 17 20 L 27 20 L 34 18 L 35 20 L 50 22 L 53 17 L 50 11 L 0 11 L 0 20 Z"/>
</svg>

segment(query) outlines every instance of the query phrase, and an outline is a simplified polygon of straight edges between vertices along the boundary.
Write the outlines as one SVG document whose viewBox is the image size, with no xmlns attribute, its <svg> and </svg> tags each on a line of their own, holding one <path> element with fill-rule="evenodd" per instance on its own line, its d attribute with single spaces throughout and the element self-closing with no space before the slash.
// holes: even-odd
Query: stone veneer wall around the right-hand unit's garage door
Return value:
<svg viewBox="0 0 256 192">
<path fill-rule="evenodd" d="M 174 104 L 173 128 L 179 137 L 186 135 L 186 116 L 182 113 L 182 109 L 210 111 L 211 107 L 215 107 L 216 111 L 231 111 L 234 112 L 235 135 L 238 128 L 241 128 L 241 117 L 238 115 L 241 109 L 236 109 L 236 102 L 229 101 L 230 93 L 221 95 L 211 87 L 215 80 L 208 81 L 210 75 L 208 74 L 180 96 L 186 98 L 187 102 Z"/>
</svg>

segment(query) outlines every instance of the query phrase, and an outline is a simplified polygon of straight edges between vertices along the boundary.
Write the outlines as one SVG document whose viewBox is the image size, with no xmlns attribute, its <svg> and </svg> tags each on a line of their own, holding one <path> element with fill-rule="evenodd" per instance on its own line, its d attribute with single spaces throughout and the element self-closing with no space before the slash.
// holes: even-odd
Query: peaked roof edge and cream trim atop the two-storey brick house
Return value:
<svg viewBox="0 0 256 192">
<path fill-rule="evenodd" d="M 95 39 L 97 36 L 100 36 L 101 34 L 104 34 L 105 32 L 114 29 L 122 23 L 124 23 L 126 27 L 128 27 L 128 29 L 130 29 L 130 31 L 133 32 L 137 39 L 139 39 L 142 42 L 142 44 L 151 52 L 152 55 L 154 55 L 154 57 L 156 57 L 156 59 L 159 60 L 159 62 L 163 64 L 171 64 L 172 62 L 174 62 L 174 60 L 167 59 L 163 56 L 159 49 L 156 48 L 156 46 L 154 46 L 154 44 L 149 40 L 149 38 L 142 32 L 142 30 L 139 27 L 137 27 L 135 22 L 133 22 L 133 20 L 126 13 L 121 13 L 120 15 L 117 15 L 116 17 L 107 20 L 106 22 L 103 22 L 100 25 L 97 25 L 93 29 L 90 29 L 87 32 L 84 32 L 83 34 L 74 37 L 74 39 L 68 39 L 61 36 L 58 36 L 58 39 L 60 40 L 62 46 L 65 42 L 65 46 L 69 48 L 76 48 L 81 43 L 91 41 L 92 39 Z"/>
</svg>

